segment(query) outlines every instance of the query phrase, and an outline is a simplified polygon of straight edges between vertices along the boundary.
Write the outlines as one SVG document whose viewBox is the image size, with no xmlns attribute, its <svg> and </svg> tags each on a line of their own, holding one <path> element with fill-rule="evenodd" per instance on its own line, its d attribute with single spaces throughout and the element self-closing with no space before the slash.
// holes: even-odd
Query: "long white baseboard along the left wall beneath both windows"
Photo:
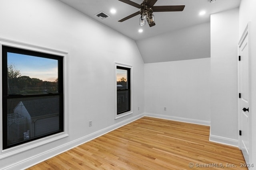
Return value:
<svg viewBox="0 0 256 170">
<path fill-rule="evenodd" d="M 61 145 L 59 147 L 56 147 L 54 149 L 47 150 L 45 152 L 42 152 L 36 156 L 32 156 L 30 158 L 27 158 L 25 160 L 22 160 L 20 162 L 16 162 L 8 167 L 0 168 L 0 170 L 22 170 L 29 168 L 33 165 L 36 165 L 40 162 L 43 162 L 44 160 L 47 160 L 49 158 L 52 158 L 60 153 L 66 152 L 67 150 L 70 150 L 74 147 L 77 147 L 79 145 L 82 145 L 83 143 L 86 143 L 88 141 L 91 141 L 97 137 L 100 137 L 110 131 L 113 131 L 115 129 L 118 129 L 119 127 L 122 127 L 128 123 L 131 123 L 137 119 L 140 119 L 141 117 L 144 117 L 144 113 L 131 117 L 130 119 L 126 119 L 124 121 L 121 121 L 119 123 L 116 123 L 110 127 L 106 127 L 105 129 L 101 129 L 99 131 L 96 131 L 94 133 L 91 133 L 90 135 L 84 136 L 80 139 L 76 139 L 74 141 L 71 141 L 69 143 L 66 143 L 64 145 Z"/>
</svg>

